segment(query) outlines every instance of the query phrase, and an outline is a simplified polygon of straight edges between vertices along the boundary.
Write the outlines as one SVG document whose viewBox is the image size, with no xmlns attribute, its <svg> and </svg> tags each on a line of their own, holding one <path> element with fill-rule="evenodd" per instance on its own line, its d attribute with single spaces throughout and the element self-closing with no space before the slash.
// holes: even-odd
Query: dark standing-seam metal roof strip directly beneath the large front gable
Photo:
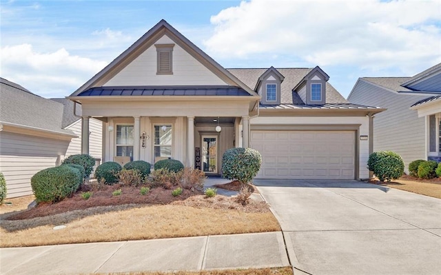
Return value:
<svg viewBox="0 0 441 275">
<path fill-rule="evenodd" d="M 78 96 L 251 96 L 234 86 L 94 87 Z"/>
</svg>

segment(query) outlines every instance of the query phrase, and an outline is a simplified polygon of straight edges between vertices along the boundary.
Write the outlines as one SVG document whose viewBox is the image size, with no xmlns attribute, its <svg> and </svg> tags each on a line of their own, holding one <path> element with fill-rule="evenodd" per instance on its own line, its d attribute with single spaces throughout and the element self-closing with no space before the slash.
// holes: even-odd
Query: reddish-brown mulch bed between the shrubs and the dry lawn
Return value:
<svg viewBox="0 0 441 275">
<path fill-rule="evenodd" d="M 112 192 L 115 190 L 122 190 L 119 196 L 113 196 Z M 165 190 L 161 187 L 153 188 L 146 195 L 139 194 L 141 187 L 130 187 L 115 185 L 105 185 L 101 190 L 91 191 L 92 196 L 88 200 L 81 197 L 81 192 L 88 191 L 88 187 L 83 187 L 83 190 L 74 193 L 70 198 L 65 198 L 58 203 L 39 203 L 37 207 L 30 210 L 24 210 L 17 214 L 8 216 L 8 220 L 23 220 L 28 218 L 37 218 L 41 216 L 50 216 L 60 214 L 72 210 L 84 210 L 89 207 L 106 206 L 106 205 L 126 205 L 126 204 L 141 204 L 141 205 L 165 205 L 173 201 L 183 201 L 190 196 L 201 195 L 201 191 L 183 190 L 180 196 L 172 196 L 172 190 Z"/>
</svg>

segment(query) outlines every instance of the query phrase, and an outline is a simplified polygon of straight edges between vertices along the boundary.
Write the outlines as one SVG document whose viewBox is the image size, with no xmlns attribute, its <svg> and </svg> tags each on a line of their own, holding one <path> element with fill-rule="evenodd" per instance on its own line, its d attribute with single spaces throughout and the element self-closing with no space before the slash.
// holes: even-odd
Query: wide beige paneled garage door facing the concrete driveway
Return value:
<svg viewBox="0 0 441 275">
<path fill-rule="evenodd" d="M 253 130 L 260 179 L 354 179 L 355 132 Z"/>
</svg>

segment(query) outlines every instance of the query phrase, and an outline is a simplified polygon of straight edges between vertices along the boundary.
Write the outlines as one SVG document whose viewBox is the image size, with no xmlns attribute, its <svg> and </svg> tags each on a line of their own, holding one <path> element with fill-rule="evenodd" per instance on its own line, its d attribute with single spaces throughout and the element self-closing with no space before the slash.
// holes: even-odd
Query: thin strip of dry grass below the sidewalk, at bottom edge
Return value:
<svg viewBox="0 0 441 275">
<path fill-rule="evenodd" d="M 170 275 L 170 272 L 130 272 L 125 275 Z M 291 267 L 274 267 L 262 269 L 228 269 L 228 270 L 207 270 L 200 272 L 173 272 L 174 275 L 292 275 Z M 92 275 L 92 274 L 90 274 Z M 121 275 L 121 273 L 105 273 L 94 275 Z"/>
</svg>

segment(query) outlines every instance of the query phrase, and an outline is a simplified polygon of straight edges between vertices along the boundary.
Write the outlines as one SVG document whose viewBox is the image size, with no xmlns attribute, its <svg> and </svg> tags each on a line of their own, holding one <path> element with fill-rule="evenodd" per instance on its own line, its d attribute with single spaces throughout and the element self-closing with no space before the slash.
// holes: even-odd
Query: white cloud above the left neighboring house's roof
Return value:
<svg viewBox="0 0 441 275">
<path fill-rule="evenodd" d="M 71 55 L 61 48 L 35 52 L 30 44 L 1 47 L 1 77 L 44 97 L 70 95 L 107 62 Z"/>
</svg>

